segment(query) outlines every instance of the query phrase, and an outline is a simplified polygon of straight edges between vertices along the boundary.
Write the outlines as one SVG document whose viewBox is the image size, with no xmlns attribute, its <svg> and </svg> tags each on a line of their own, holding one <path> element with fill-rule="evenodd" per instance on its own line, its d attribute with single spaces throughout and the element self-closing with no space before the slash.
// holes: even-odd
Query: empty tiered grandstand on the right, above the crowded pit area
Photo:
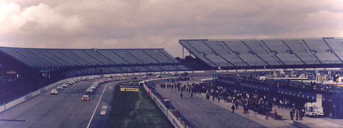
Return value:
<svg viewBox="0 0 343 128">
<path fill-rule="evenodd" d="M 343 38 L 179 40 L 211 67 L 343 64 Z"/>
</svg>

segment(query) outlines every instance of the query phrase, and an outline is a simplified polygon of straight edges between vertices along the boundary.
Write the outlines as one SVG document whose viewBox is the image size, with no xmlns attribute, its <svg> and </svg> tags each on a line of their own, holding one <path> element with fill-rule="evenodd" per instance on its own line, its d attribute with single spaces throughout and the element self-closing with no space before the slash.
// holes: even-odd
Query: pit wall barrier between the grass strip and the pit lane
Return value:
<svg viewBox="0 0 343 128">
<path fill-rule="evenodd" d="M 163 79 L 154 79 L 154 80 L 147 80 L 148 84 L 144 83 L 144 88 L 147 91 L 150 91 L 150 97 L 152 100 L 157 104 L 157 106 L 164 112 L 167 116 L 168 120 L 173 124 L 175 128 L 196 128 L 191 122 L 189 122 L 186 117 L 184 117 L 179 111 L 177 113 L 177 117 L 175 117 L 175 107 L 172 106 L 171 102 L 165 102 L 162 99 L 162 95 L 159 94 L 156 89 L 149 83 L 158 83 L 158 82 L 165 82 L 167 79 L 171 78 L 163 78 Z M 178 78 L 172 78 L 174 80 Z M 179 120 L 180 119 L 180 120 Z M 183 122 L 183 123 L 182 123 Z"/>
</svg>

